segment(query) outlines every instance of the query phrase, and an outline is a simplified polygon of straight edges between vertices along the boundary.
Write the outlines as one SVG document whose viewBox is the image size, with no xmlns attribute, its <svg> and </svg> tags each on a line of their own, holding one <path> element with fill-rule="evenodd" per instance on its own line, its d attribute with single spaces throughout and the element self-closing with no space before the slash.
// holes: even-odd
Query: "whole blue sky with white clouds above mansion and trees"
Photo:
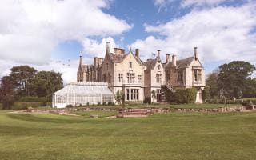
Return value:
<svg viewBox="0 0 256 160">
<path fill-rule="evenodd" d="M 0 78 L 12 66 L 62 72 L 76 81 L 83 63 L 110 47 L 198 57 L 206 73 L 223 63 L 256 65 L 256 0 L 0 0 Z"/>
</svg>

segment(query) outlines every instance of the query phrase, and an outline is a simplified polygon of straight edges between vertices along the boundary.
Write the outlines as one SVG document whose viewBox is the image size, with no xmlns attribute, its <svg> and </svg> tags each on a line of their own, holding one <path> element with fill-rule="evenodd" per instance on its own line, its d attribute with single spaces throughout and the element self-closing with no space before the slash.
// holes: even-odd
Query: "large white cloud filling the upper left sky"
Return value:
<svg viewBox="0 0 256 160">
<path fill-rule="evenodd" d="M 92 47 L 85 51 L 97 53 L 100 51 L 94 47 L 97 42 L 90 40 L 90 36 L 114 36 L 132 28 L 122 19 L 102 11 L 108 7 L 110 0 L 2 0 L 0 77 L 8 73 L 10 64 L 58 69 L 59 66 L 50 62 L 51 54 L 54 47 L 66 40 L 84 42 L 84 47 Z"/>
</svg>

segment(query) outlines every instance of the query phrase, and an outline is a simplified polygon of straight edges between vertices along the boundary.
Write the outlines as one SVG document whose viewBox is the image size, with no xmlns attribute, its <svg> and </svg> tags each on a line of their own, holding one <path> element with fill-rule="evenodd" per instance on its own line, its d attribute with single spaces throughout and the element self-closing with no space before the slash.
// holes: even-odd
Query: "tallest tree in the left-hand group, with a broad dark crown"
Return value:
<svg viewBox="0 0 256 160">
<path fill-rule="evenodd" d="M 18 87 L 18 95 L 31 95 L 31 82 L 37 70 L 30 66 L 14 66 L 10 71 L 10 78 L 13 79 L 15 86 Z"/>
</svg>

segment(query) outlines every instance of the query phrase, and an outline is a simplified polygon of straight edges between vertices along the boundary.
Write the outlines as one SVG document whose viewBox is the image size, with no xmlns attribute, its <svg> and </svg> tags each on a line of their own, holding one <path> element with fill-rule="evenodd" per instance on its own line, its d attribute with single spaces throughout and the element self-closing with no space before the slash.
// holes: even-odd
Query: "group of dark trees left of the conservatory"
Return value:
<svg viewBox="0 0 256 160">
<path fill-rule="evenodd" d="M 22 97 L 46 97 L 63 87 L 62 74 L 38 71 L 30 66 L 14 66 L 0 83 L 0 102 L 8 108 Z"/>
</svg>

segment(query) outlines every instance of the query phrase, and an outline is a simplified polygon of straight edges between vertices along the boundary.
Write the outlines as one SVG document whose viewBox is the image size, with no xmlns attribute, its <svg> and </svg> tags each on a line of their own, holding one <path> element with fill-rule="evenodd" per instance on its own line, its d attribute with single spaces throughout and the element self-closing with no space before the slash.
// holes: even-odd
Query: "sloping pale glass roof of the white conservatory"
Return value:
<svg viewBox="0 0 256 160">
<path fill-rule="evenodd" d="M 54 94 L 107 94 L 112 95 L 106 82 L 71 82 Z"/>
</svg>

